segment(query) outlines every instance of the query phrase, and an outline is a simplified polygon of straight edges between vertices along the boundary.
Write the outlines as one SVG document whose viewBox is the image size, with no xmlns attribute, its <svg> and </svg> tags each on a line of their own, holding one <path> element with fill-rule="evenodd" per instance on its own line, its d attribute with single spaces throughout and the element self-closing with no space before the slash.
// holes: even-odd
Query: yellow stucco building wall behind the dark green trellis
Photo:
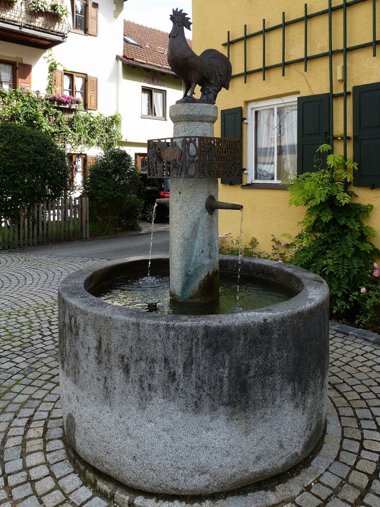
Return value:
<svg viewBox="0 0 380 507">
<path fill-rule="evenodd" d="M 333 0 L 332 6 L 341 5 Z M 285 19 L 300 18 L 305 14 L 305 2 L 302 0 L 193 0 L 193 50 L 200 54 L 207 48 L 215 48 L 227 55 L 227 31 L 230 40 L 262 30 L 265 27 L 282 23 L 282 12 Z M 379 6 L 377 6 L 379 7 Z M 308 5 L 308 14 L 328 9 L 328 0 L 313 0 Z M 333 49 L 343 48 L 343 10 L 333 11 L 332 26 Z M 380 39 L 380 22 L 377 22 L 376 39 Z M 347 8 L 347 46 L 354 46 L 372 41 L 372 2 L 363 2 Z M 304 55 L 304 23 L 298 22 L 286 27 L 285 60 L 302 58 Z M 265 34 L 265 66 L 282 61 L 282 30 L 273 30 Z M 328 51 L 328 15 L 316 16 L 308 20 L 308 55 Z M 352 87 L 380 81 L 380 46 L 378 56 L 372 56 L 372 47 L 365 47 L 347 53 L 347 91 Z M 230 46 L 230 60 L 233 75 L 244 72 L 244 43 Z M 337 67 L 343 63 L 342 53 L 333 54 L 333 92 L 343 92 L 343 82 L 337 80 Z M 247 40 L 247 69 L 262 66 L 262 37 Z M 285 66 L 282 77 L 281 67 L 267 69 L 265 81 L 262 72 L 237 77 L 231 80 L 230 90 L 224 89 L 218 95 L 216 105 L 219 112 L 231 107 L 243 107 L 243 116 L 247 117 L 247 104 L 259 100 L 285 97 L 300 94 L 301 96 L 329 92 L 329 59 L 328 56 L 308 61 L 307 72 L 303 62 Z M 333 99 L 334 135 L 343 132 L 343 98 Z M 353 136 L 352 95 L 347 101 L 347 135 Z M 220 135 L 220 115 L 215 124 L 215 135 Z M 247 167 L 247 125 L 243 123 L 243 167 Z M 343 141 L 334 140 L 334 153 L 343 154 Z M 352 156 L 352 140 L 348 141 L 348 157 Z M 379 161 L 380 166 L 380 161 Z M 379 167 L 380 169 L 380 167 Z M 247 174 L 243 174 L 243 185 L 247 183 Z M 250 183 L 250 182 L 248 182 Z M 365 187 L 349 187 L 358 194 L 362 203 L 371 203 L 374 209 L 368 223 L 376 230 L 378 236 L 374 243 L 380 247 L 380 189 L 370 190 Z M 243 204 L 243 243 L 248 243 L 252 236 L 259 241 L 259 249 L 270 251 L 271 235 L 283 240 L 281 235 L 295 235 L 299 231 L 298 222 L 302 220 L 302 208 L 289 207 L 289 193 L 283 189 L 241 188 L 239 185 L 219 185 L 219 200 Z M 219 232 L 231 231 L 236 237 L 240 229 L 240 214 L 236 211 L 219 211 Z"/>
</svg>

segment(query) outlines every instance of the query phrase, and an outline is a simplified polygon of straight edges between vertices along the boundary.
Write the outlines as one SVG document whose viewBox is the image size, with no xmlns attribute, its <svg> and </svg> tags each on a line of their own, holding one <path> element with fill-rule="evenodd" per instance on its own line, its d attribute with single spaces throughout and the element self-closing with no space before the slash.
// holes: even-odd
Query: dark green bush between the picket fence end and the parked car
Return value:
<svg viewBox="0 0 380 507">
<path fill-rule="evenodd" d="M 104 233 L 114 233 L 123 220 L 132 226 L 138 221 L 142 207 L 136 198 L 138 182 L 132 158 L 121 148 L 97 157 L 83 193 L 89 196 L 91 217 L 101 223 Z"/>
</svg>

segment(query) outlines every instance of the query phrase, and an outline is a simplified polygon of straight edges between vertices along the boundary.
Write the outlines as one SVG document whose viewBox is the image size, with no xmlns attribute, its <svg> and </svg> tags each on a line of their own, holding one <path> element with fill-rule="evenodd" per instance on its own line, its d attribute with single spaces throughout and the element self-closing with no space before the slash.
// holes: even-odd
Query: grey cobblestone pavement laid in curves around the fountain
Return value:
<svg viewBox="0 0 380 507">
<path fill-rule="evenodd" d="M 89 473 L 86 480 L 66 454 L 57 287 L 93 262 L 102 260 L 0 253 L 1 507 L 190 505 L 136 495 Z M 275 485 L 193 505 L 380 507 L 380 343 L 341 329 L 330 329 L 331 403 L 323 446 L 313 460 Z"/>
</svg>

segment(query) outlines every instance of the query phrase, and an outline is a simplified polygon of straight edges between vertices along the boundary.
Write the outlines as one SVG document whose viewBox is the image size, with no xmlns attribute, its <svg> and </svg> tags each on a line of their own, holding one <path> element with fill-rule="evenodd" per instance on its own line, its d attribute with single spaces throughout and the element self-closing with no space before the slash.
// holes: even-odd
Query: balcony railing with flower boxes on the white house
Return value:
<svg viewBox="0 0 380 507">
<path fill-rule="evenodd" d="M 29 9 L 27 0 L 19 0 L 17 4 L 12 5 L 5 0 L 0 0 L 0 24 L 6 25 L 9 29 L 19 29 L 20 32 L 29 33 L 32 31 L 54 33 L 60 35 L 62 39 L 71 29 L 68 19 L 60 18 L 52 12 L 34 12 Z M 18 39 L 15 35 L 12 38 Z M 15 41 L 16 42 L 16 41 Z"/>
</svg>

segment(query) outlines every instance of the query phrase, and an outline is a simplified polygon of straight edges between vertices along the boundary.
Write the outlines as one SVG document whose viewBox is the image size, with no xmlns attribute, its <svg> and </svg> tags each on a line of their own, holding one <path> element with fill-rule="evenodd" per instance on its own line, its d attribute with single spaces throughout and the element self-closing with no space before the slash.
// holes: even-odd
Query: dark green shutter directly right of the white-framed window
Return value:
<svg viewBox="0 0 380 507">
<path fill-rule="evenodd" d="M 317 150 L 330 140 L 329 112 L 328 93 L 298 97 L 297 174 L 326 168 L 327 153 Z"/>
</svg>

